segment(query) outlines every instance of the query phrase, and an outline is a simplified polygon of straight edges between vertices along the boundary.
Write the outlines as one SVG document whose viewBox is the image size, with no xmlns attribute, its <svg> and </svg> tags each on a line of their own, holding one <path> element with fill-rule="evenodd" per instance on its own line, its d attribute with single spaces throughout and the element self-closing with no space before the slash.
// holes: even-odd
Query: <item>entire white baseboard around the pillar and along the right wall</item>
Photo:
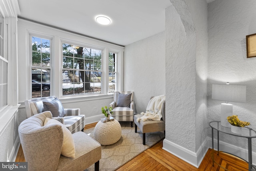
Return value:
<svg viewBox="0 0 256 171">
<path fill-rule="evenodd" d="M 214 139 L 214 149 L 217 150 L 217 139 Z M 201 147 L 198 149 L 198 151 L 195 153 L 193 151 L 190 151 L 184 147 L 181 147 L 180 145 L 177 145 L 169 140 L 164 139 L 163 141 L 163 149 L 165 151 L 168 151 L 169 153 L 175 155 L 176 157 L 179 157 L 183 161 L 186 161 L 187 163 L 193 165 L 194 167 L 199 167 L 202 160 L 204 159 L 204 156 L 206 155 L 206 152 L 209 148 L 212 148 L 212 138 L 206 137 L 204 142 L 202 143 Z M 225 151 L 227 153 L 233 154 L 235 156 L 241 157 L 242 159 L 245 159 L 248 161 L 248 150 L 237 147 L 235 145 L 231 145 L 229 143 L 219 141 L 219 148 L 220 151 Z M 256 165 L 256 153 L 252 152 L 252 164 Z"/>
</svg>

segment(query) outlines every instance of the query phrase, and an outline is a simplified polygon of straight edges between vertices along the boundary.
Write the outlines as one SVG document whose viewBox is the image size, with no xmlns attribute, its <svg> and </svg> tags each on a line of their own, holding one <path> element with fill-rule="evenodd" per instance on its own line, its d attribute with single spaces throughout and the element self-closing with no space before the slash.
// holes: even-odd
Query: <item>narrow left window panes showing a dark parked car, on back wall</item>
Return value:
<svg viewBox="0 0 256 171">
<path fill-rule="evenodd" d="M 31 36 L 32 39 L 32 98 L 50 96 L 51 41 Z"/>
</svg>

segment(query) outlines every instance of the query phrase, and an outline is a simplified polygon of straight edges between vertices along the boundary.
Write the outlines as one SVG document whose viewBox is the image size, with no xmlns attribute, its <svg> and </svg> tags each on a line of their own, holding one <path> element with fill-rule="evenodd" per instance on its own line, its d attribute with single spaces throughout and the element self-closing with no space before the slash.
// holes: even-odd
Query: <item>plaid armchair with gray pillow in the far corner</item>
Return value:
<svg viewBox="0 0 256 171">
<path fill-rule="evenodd" d="M 133 91 L 114 92 L 114 101 L 110 103 L 112 117 L 118 121 L 130 121 L 133 124 L 134 96 Z"/>
</svg>

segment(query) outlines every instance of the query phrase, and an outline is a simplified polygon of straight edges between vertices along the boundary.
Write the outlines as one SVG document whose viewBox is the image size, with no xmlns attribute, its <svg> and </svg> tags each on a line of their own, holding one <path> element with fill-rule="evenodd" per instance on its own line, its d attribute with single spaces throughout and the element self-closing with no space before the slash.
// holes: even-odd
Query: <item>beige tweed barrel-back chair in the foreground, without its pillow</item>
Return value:
<svg viewBox="0 0 256 171">
<path fill-rule="evenodd" d="M 101 145 L 86 133 L 79 131 L 70 134 L 74 140 L 74 158 L 61 155 L 65 130 L 60 122 L 44 126 L 46 118 L 52 118 L 45 111 L 25 119 L 18 128 L 28 171 L 83 171 L 95 163 L 99 170 Z"/>
</svg>

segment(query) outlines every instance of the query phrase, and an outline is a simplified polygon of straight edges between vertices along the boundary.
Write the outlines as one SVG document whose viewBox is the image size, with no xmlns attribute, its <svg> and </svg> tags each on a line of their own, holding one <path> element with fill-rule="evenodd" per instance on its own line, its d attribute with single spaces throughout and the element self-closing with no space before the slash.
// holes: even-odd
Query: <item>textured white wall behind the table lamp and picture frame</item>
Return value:
<svg viewBox="0 0 256 171">
<path fill-rule="evenodd" d="M 215 0 L 208 4 L 208 121 L 220 120 L 220 103 L 212 84 L 246 85 L 246 103 L 233 104 L 233 114 L 256 129 L 256 58 L 246 58 L 246 35 L 256 33 L 255 0 Z M 209 134 L 211 134 L 209 132 Z M 247 148 L 247 140 L 220 134 L 220 140 Z M 256 142 L 252 140 L 252 151 Z"/>
</svg>

